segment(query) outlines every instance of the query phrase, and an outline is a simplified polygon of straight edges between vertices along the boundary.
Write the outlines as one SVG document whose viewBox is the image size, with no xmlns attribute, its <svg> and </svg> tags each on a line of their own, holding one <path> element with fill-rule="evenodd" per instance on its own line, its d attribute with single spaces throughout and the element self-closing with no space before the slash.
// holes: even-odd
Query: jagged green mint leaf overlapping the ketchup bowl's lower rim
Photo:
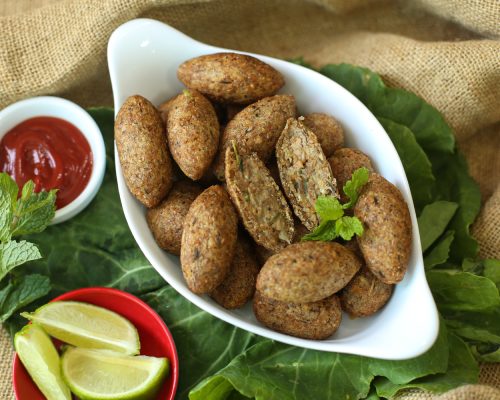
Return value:
<svg viewBox="0 0 500 400">
<path fill-rule="evenodd" d="M 11 235 L 20 236 L 43 231 L 56 212 L 56 190 L 34 193 L 34 183 L 27 182 L 17 200 L 11 225 Z"/>
</svg>

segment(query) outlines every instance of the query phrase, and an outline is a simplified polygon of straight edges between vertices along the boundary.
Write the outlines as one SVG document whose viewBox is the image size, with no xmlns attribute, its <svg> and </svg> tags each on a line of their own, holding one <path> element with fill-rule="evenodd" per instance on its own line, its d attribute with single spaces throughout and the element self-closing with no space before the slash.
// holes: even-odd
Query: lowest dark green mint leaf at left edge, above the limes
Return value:
<svg viewBox="0 0 500 400">
<path fill-rule="evenodd" d="M 45 296 L 49 291 L 49 278 L 39 274 L 25 275 L 9 282 L 0 290 L 0 322 L 5 322 L 17 310 Z"/>
</svg>

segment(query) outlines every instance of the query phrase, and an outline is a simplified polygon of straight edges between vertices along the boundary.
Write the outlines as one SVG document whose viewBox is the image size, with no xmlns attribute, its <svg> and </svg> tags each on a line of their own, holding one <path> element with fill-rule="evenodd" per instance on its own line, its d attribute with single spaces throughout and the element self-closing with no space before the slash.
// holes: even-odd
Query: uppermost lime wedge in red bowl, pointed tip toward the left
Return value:
<svg viewBox="0 0 500 400">
<path fill-rule="evenodd" d="M 121 315 L 76 301 L 48 303 L 34 313 L 21 313 L 50 336 L 74 346 L 138 354 L 139 335 Z"/>
</svg>

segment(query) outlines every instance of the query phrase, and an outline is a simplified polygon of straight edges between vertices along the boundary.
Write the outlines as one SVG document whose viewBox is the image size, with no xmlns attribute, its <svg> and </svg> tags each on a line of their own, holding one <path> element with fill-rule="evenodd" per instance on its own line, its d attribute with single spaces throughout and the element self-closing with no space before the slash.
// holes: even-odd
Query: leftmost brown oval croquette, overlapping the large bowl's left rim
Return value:
<svg viewBox="0 0 500 400">
<path fill-rule="evenodd" d="M 158 205 L 173 182 L 172 161 L 158 110 L 142 96 L 127 98 L 116 116 L 115 141 L 132 195 L 146 207 Z"/>
</svg>

